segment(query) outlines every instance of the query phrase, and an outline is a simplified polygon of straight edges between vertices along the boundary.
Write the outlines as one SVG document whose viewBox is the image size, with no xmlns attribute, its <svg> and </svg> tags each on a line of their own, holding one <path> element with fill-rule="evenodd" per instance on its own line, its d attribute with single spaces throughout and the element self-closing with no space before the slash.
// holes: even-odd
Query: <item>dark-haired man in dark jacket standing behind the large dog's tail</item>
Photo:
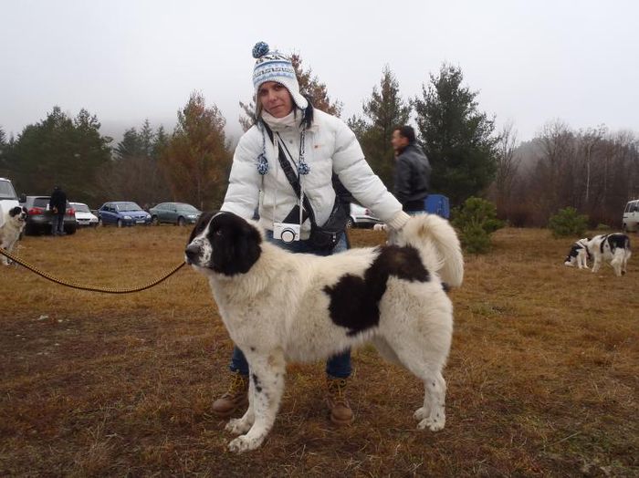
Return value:
<svg viewBox="0 0 639 478">
<path fill-rule="evenodd" d="M 424 211 L 424 200 L 428 196 L 431 179 L 431 165 L 424 151 L 415 141 L 411 126 L 403 126 L 393 131 L 395 151 L 395 197 L 402 203 L 406 213 Z"/>
</svg>

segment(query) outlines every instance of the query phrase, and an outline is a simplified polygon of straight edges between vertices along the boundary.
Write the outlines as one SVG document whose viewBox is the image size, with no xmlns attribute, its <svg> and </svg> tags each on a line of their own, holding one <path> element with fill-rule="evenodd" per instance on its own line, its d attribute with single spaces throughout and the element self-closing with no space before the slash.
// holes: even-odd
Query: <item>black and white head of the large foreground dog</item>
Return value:
<svg viewBox="0 0 639 478">
<path fill-rule="evenodd" d="M 203 213 L 184 251 L 186 264 L 223 275 L 246 274 L 262 253 L 262 234 L 234 213 Z"/>
</svg>

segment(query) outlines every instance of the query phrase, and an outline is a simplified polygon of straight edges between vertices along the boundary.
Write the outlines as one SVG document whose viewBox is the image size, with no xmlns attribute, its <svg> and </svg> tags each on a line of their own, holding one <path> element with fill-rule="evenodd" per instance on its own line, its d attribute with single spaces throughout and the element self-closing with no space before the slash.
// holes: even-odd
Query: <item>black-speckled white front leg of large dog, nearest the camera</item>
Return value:
<svg viewBox="0 0 639 478">
<path fill-rule="evenodd" d="M 253 417 L 245 415 L 246 421 L 242 422 L 242 428 L 250 422 L 249 419 L 254 420 L 246 434 L 238 436 L 228 444 L 232 452 L 255 450 L 264 442 L 268 432 L 273 428 L 284 390 L 286 364 L 281 350 L 272 352 L 268 357 L 246 354 L 246 360 L 250 369 L 249 388 L 253 389 L 249 398 L 252 399 L 249 408 L 253 411 Z"/>
</svg>

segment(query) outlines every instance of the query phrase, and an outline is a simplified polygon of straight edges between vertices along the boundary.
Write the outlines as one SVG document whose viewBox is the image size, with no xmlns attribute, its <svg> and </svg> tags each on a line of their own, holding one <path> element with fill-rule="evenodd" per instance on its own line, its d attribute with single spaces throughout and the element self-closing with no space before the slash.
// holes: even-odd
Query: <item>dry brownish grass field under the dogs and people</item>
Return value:
<svg viewBox="0 0 639 478">
<path fill-rule="evenodd" d="M 26 237 L 18 254 L 80 283 L 136 286 L 178 264 L 188 234 L 82 230 Z M 637 476 L 639 248 L 618 278 L 564 267 L 570 242 L 503 229 L 491 254 L 466 256 L 443 431 L 416 430 L 421 384 L 362 348 L 351 427 L 328 421 L 323 365 L 290 365 L 273 431 L 242 455 L 210 413 L 231 342 L 203 276 L 184 267 L 114 296 L 1 267 L 0 475 Z"/>
</svg>

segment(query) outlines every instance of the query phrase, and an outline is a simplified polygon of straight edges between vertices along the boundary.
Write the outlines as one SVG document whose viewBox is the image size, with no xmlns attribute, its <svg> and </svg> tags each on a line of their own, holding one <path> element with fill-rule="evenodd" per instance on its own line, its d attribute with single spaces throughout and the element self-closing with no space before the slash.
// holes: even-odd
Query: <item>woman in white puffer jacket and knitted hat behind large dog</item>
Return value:
<svg viewBox="0 0 639 478">
<path fill-rule="evenodd" d="M 257 121 L 237 144 L 220 210 L 246 219 L 254 217 L 257 211 L 267 239 L 293 253 L 331 255 L 346 248 L 344 234 L 331 250 L 311 244 L 309 219 L 301 221 L 299 240 L 285 244 L 273 238 L 275 223 L 300 223 L 299 197 L 278 161 L 281 148 L 288 151 L 290 165 L 309 199 L 317 224 L 327 222 L 336 203 L 331 182 L 335 174 L 358 202 L 372 209 L 389 226 L 401 229 L 408 214 L 403 213 L 402 204 L 372 172 L 348 126 L 314 109 L 299 92 L 295 69 L 288 57 L 269 50 L 264 42 L 253 48 L 253 57 Z M 229 389 L 213 404 L 218 416 L 231 415 L 246 405 L 249 370 L 239 348 L 234 349 L 230 370 Z M 351 423 L 354 417 L 345 395 L 351 375 L 351 351 L 329 359 L 326 373 L 330 420 L 336 424 Z"/>
</svg>

